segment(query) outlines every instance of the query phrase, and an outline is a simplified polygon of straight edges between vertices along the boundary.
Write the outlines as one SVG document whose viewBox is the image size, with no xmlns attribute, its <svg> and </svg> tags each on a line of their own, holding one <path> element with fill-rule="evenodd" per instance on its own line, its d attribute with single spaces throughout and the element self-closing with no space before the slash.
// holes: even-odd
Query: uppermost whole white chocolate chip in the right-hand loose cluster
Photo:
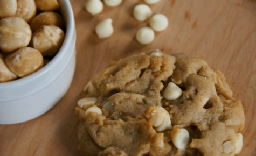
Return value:
<svg viewBox="0 0 256 156">
<path fill-rule="evenodd" d="M 152 15 L 152 11 L 146 4 L 139 4 L 134 7 L 133 16 L 139 20 L 147 20 Z"/>
</svg>

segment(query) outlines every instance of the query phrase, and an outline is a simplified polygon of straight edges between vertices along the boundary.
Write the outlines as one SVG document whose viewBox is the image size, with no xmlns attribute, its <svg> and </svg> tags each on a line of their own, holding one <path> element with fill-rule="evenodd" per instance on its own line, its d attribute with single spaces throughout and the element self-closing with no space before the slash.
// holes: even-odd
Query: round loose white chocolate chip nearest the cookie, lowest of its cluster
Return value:
<svg viewBox="0 0 256 156">
<path fill-rule="evenodd" d="M 155 33 L 150 27 L 142 27 L 136 33 L 136 39 L 140 44 L 150 44 L 155 38 Z"/>
</svg>

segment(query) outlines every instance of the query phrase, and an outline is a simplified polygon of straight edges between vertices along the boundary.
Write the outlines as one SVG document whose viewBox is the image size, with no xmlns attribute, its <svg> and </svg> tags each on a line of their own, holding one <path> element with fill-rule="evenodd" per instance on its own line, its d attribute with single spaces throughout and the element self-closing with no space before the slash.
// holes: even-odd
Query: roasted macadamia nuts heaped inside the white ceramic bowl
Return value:
<svg viewBox="0 0 256 156">
<path fill-rule="evenodd" d="M 63 44 L 64 19 L 57 0 L 0 1 L 0 82 L 30 75 Z"/>
</svg>

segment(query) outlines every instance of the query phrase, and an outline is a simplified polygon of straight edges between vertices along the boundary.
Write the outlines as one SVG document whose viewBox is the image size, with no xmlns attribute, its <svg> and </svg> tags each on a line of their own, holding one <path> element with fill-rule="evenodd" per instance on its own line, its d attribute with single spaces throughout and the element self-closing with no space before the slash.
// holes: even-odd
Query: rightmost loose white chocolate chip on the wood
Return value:
<svg viewBox="0 0 256 156">
<path fill-rule="evenodd" d="M 151 17 L 149 25 L 155 31 L 163 31 L 168 26 L 168 19 L 159 13 Z"/>
</svg>

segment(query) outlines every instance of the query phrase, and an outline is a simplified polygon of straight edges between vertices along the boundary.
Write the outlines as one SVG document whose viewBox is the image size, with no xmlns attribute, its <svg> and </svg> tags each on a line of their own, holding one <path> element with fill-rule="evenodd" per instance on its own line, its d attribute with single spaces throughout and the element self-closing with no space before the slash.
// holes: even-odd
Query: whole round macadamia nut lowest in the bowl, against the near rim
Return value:
<svg viewBox="0 0 256 156">
<path fill-rule="evenodd" d="M 24 77 L 43 67 L 43 56 L 37 49 L 24 47 L 6 56 L 5 62 L 13 73 Z"/>
</svg>

